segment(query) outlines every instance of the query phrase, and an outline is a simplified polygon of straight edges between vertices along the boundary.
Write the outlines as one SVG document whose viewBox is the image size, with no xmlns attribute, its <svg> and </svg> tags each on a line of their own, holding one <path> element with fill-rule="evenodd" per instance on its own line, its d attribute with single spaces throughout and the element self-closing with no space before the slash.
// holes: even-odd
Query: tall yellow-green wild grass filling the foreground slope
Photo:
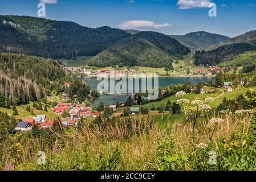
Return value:
<svg viewBox="0 0 256 182">
<path fill-rule="evenodd" d="M 172 127 L 159 129 L 152 118 L 144 115 L 118 121 L 103 118 L 100 123 L 85 121 L 72 133 L 51 131 L 47 138 L 24 138 L 18 134 L 2 144 L 2 169 L 6 164 L 13 165 L 15 170 L 52 171 L 232 169 L 232 164 L 227 164 L 230 150 L 237 150 L 239 159 L 246 154 L 245 142 L 252 132 L 253 120 L 249 114 L 241 117 L 227 113 L 216 117 L 224 119 L 224 123 L 214 130 L 205 129 L 206 118 L 198 119 L 195 145 L 189 123 L 174 123 Z M 227 146 L 232 141 L 237 142 L 236 146 Z M 194 147 L 199 143 L 208 147 Z M 211 150 L 218 154 L 215 166 L 208 164 Z M 37 163 L 39 151 L 46 152 L 44 165 Z"/>
</svg>

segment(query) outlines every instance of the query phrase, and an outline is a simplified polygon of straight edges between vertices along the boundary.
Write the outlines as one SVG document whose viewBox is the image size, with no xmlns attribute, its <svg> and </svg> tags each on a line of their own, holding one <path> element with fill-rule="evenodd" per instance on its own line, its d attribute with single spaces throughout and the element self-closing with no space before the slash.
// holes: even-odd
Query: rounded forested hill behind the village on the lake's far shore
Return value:
<svg viewBox="0 0 256 182">
<path fill-rule="evenodd" d="M 92 57 L 89 65 L 108 67 L 112 65 L 165 67 L 172 69 L 172 58 L 190 52 L 170 36 L 157 32 L 139 32 L 114 44 Z"/>
</svg>

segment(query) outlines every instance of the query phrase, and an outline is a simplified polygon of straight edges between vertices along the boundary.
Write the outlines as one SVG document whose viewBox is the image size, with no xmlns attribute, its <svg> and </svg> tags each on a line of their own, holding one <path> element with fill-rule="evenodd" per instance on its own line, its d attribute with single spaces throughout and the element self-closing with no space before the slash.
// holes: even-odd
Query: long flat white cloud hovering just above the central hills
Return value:
<svg viewBox="0 0 256 182">
<path fill-rule="evenodd" d="M 164 24 L 157 24 L 152 21 L 146 20 L 128 20 L 121 22 L 117 27 L 121 29 L 140 29 L 140 28 L 164 28 L 164 27 L 171 27 L 172 24 L 164 23 Z"/>
</svg>

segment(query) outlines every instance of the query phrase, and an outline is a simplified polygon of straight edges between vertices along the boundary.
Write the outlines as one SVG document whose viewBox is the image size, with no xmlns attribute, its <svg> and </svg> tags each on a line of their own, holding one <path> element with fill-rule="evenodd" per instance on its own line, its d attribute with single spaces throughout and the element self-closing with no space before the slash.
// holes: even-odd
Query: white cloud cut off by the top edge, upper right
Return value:
<svg viewBox="0 0 256 182">
<path fill-rule="evenodd" d="M 209 7 L 211 0 L 178 0 L 178 9 L 195 9 Z"/>
</svg>

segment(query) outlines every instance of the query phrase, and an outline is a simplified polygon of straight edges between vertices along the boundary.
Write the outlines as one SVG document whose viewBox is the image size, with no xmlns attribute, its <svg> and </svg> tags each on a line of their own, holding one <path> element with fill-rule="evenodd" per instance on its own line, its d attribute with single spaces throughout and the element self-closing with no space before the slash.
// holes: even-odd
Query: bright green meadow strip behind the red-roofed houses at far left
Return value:
<svg viewBox="0 0 256 182">
<path fill-rule="evenodd" d="M 26 111 L 26 107 L 28 105 L 22 105 L 22 106 L 17 106 L 18 113 L 19 115 L 16 115 L 15 118 L 17 119 L 24 119 L 24 118 L 32 118 L 36 116 L 37 114 L 45 114 L 47 119 L 55 119 L 55 117 L 58 116 L 58 114 L 54 113 L 54 111 L 51 111 L 49 108 L 47 108 L 47 112 L 44 110 L 36 110 L 32 105 L 32 103 L 29 104 L 30 108 L 34 110 L 34 115 L 31 114 L 31 112 Z M 12 109 L 6 109 L 3 107 L 0 107 L 0 111 L 6 112 L 9 115 L 13 115 L 13 110 Z"/>
</svg>

